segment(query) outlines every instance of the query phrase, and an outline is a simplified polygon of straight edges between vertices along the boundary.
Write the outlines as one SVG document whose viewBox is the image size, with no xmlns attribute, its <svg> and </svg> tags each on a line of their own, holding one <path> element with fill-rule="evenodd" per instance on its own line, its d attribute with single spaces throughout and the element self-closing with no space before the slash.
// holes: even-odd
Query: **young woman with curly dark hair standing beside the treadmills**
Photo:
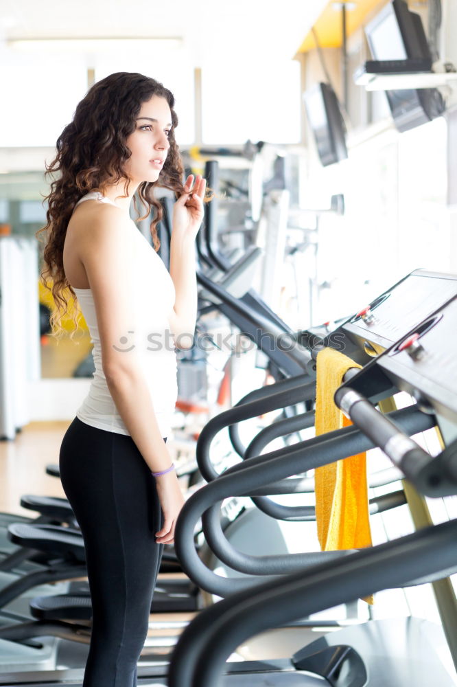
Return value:
<svg viewBox="0 0 457 687">
<path fill-rule="evenodd" d="M 163 544 L 183 506 L 165 440 L 176 402 L 174 342 L 191 345 L 194 240 L 205 180 L 183 185 L 174 97 L 141 74 L 111 74 L 78 104 L 47 173 L 42 280 L 52 278 L 56 330 L 70 292 L 93 341 L 95 374 L 65 433 L 60 475 L 82 530 L 93 620 L 84 687 L 134 687 Z M 130 219 L 172 189 L 169 273 Z M 135 203 L 135 201 L 134 201 Z M 76 317 L 75 323 L 76 323 Z"/>
</svg>

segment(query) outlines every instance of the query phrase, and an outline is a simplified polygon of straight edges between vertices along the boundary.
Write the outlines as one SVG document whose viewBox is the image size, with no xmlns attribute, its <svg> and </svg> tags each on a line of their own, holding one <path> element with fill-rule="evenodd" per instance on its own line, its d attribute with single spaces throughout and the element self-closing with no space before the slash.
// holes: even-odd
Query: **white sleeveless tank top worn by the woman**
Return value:
<svg viewBox="0 0 457 687">
<path fill-rule="evenodd" d="M 115 205 L 99 192 L 86 194 L 76 205 L 82 201 L 94 199 Z M 174 284 L 165 264 L 133 221 L 132 228 L 134 228 L 132 242 L 134 242 L 135 260 L 133 280 L 135 302 L 132 303 L 132 308 L 141 315 L 140 320 L 137 317 L 137 322 L 141 324 L 140 330 L 135 333 L 135 345 L 137 345 L 137 353 L 141 355 L 144 379 L 150 390 L 157 422 L 165 438 L 169 436 L 178 396 L 176 350 L 169 329 L 169 314 L 175 301 Z M 91 289 L 73 289 L 73 291 L 89 327 L 95 364 L 89 393 L 78 408 L 76 416 L 91 427 L 130 436 L 130 432 L 117 412 L 102 369 L 102 349 Z M 131 341 L 124 342 L 126 348 L 130 343 Z M 122 343 L 119 343 L 119 348 L 121 345 Z"/>
</svg>

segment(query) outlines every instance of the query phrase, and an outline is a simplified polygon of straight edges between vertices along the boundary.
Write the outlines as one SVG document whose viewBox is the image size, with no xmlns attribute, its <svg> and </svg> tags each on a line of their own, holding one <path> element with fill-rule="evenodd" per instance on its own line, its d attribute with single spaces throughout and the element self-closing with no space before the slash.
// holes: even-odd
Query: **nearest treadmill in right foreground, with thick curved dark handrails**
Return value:
<svg viewBox="0 0 457 687">
<path fill-rule="evenodd" d="M 350 379 L 336 392 L 336 404 L 353 421 L 351 432 L 360 439 L 382 447 L 397 469 L 417 491 L 428 497 L 457 495 L 457 362 L 453 339 L 457 329 L 457 299 L 450 300 L 433 317 L 413 328 L 395 346 Z M 404 431 L 403 411 L 386 416 L 375 408 L 375 401 L 386 392 L 414 394 L 417 405 L 411 416 L 428 416 L 441 431 L 445 442 L 438 455 L 430 455 Z M 424 419 L 425 421 L 425 419 Z M 411 428 L 410 428 L 411 429 Z M 347 437 L 341 430 L 331 433 L 340 451 L 349 455 Z M 331 438 L 318 437 L 314 447 Z M 343 457 L 343 455 L 341 456 Z M 265 458 L 265 456 L 259 457 Z M 298 455 L 253 459 L 255 464 L 235 466 L 204 487 L 185 506 L 178 522 L 177 543 L 181 548 L 189 517 L 229 493 L 251 493 L 268 481 L 296 473 Z M 309 453 L 301 462 L 316 466 L 324 460 Z M 243 479 L 239 480 L 239 475 Z M 206 492 L 206 494 L 204 493 Z M 429 524 L 413 534 L 399 537 L 360 552 L 349 552 L 328 563 L 298 567 L 297 572 L 266 583 L 231 584 L 232 593 L 215 606 L 200 613 L 183 632 L 174 650 L 169 671 L 169 687 L 222 687 L 233 685 L 289 685 L 310 687 L 331 684 L 335 687 L 450 687 L 456 676 L 441 660 L 444 636 L 437 627 L 419 618 L 368 621 L 348 627 L 312 642 L 290 659 L 272 661 L 268 666 L 253 662 L 238 667 L 239 673 L 224 675 L 226 660 L 236 647 L 257 633 L 303 618 L 310 613 L 355 600 L 380 589 L 443 581 L 457 570 L 457 519 Z M 191 554 L 186 550 L 189 565 Z M 271 572 L 268 556 L 263 574 Z M 239 569 L 239 567 L 238 567 Z M 277 571 L 278 572 L 278 571 Z M 198 572 L 200 576 L 200 572 Z M 260 572 L 259 574 L 262 574 Z M 219 594 L 225 582 L 207 581 Z M 456 598 L 454 611 L 456 609 Z M 447 645 L 457 667 L 457 636 L 454 624 L 445 627 Z M 265 663 L 265 662 L 264 662 Z M 310 674 L 311 673 L 311 674 Z M 314 674 L 314 675 L 313 675 Z"/>
</svg>

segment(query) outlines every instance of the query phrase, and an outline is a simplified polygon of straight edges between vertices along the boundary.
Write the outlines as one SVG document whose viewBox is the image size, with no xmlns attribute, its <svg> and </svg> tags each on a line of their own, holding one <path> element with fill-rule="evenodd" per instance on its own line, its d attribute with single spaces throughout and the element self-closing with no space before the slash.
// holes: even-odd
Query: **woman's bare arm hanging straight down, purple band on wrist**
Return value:
<svg viewBox="0 0 457 687">
<path fill-rule="evenodd" d="M 134 249 L 132 227 L 115 207 L 99 208 L 78 246 L 91 286 L 102 367 L 108 390 L 130 436 L 152 472 L 166 470 L 171 460 L 154 414 L 150 391 L 137 354 L 140 330 L 134 319 Z M 122 343 L 127 337 L 127 343 Z M 183 504 L 176 473 L 156 478 L 165 515 L 161 543 L 172 541 L 174 522 Z M 161 496 L 162 493 L 162 496 Z M 167 538 L 167 535 L 170 536 Z M 165 537 L 165 539 L 164 539 Z"/>
</svg>

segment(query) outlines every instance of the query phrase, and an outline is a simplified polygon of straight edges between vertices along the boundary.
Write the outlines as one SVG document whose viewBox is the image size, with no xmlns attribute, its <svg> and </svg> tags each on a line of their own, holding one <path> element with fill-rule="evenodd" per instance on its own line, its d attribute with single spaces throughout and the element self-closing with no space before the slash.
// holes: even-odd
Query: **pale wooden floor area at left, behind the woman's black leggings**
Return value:
<svg viewBox="0 0 457 687">
<path fill-rule="evenodd" d="M 60 442 L 70 422 L 30 423 L 14 441 L 0 441 L 0 511 L 34 517 L 19 505 L 21 495 L 62 496 L 60 480 L 45 473 L 58 463 Z"/>
</svg>

